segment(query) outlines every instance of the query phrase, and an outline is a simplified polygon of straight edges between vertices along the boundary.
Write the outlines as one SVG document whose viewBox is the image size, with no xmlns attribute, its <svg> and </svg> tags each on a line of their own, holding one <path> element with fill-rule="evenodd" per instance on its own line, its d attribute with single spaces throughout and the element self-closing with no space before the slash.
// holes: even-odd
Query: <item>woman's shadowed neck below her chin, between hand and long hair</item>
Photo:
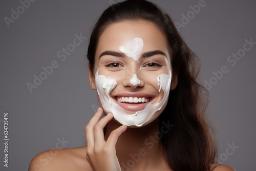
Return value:
<svg viewBox="0 0 256 171">
<path fill-rule="evenodd" d="M 108 123 L 105 140 L 120 124 L 114 120 Z M 165 163 L 159 140 L 159 119 L 143 127 L 128 128 L 116 143 L 116 155 L 122 170 L 145 170 L 146 167 Z M 129 168 L 129 169 L 127 169 Z"/>
</svg>

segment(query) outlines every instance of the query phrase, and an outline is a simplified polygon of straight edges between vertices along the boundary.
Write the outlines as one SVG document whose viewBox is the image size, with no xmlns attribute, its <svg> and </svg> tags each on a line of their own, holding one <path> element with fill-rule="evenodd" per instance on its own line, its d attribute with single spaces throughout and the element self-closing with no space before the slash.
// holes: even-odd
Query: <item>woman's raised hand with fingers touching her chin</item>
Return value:
<svg viewBox="0 0 256 171">
<path fill-rule="evenodd" d="M 119 171 L 120 164 L 116 156 L 116 142 L 118 137 L 127 129 L 120 126 L 112 131 L 108 140 L 104 140 L 103 128 L 113 118 L 109 113 L 101 120 L 102 108 L 99 108 L 86 126 L 87 154 L 86 158 L 95 171 Z"/>
</svg>

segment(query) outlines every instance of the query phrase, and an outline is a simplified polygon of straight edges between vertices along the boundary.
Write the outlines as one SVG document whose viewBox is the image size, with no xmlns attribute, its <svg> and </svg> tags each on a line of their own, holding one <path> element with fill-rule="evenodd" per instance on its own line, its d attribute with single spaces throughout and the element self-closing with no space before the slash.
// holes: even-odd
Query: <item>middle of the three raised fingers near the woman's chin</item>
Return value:
<svg viewBox="0 0 256 171">
<path fill-rule="evenodd" d="M 105 125 L 111 121 L 112 118 L 113 114 L 109 113 L 94 126 L 94 141 L 96 146 L 103 145 L 105 143 L 103 129 Z"/>
</svg>

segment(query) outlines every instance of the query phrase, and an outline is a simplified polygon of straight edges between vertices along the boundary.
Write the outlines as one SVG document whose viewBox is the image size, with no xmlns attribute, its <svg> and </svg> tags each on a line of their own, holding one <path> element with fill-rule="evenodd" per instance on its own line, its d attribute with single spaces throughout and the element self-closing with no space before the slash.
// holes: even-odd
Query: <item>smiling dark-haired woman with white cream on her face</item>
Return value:
<svg viewBox="0 0 256 171">
<path fill-rule="evenodd" d="M 233 170 L 216 163 L 199 60 L 172 19 L 143 0 L 112 8 L 88 47 L 101 108 L 86 126 L 87 146 L 62 149 L 47 165 L 39 154 L 29 170 Z"/>
</svg>

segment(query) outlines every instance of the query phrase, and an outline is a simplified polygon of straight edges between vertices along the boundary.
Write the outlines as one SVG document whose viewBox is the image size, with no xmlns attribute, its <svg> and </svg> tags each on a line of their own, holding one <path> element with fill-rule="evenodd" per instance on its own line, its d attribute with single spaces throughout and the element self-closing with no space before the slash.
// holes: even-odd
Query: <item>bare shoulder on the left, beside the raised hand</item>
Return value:
<svg viewBox="0 0 256 171">
<path fill-rule="evenodd" d="M 87 146 L 49 149 L 31 160 L 29 171 L 92 170 L 86 159 L 86 152 Z"/>
</svg>

